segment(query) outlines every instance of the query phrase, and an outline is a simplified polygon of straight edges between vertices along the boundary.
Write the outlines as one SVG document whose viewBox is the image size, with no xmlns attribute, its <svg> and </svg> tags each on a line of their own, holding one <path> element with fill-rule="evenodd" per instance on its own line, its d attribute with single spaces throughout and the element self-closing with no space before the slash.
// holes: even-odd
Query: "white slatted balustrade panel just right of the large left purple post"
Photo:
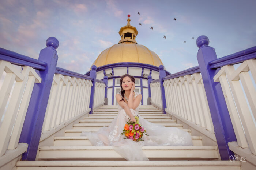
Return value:
<svg viewBox="0 0 256 170">
<path fill-rule="evenodd" d="M 92 85 L 91 80 L 54 75 L 40 141 L 91 110 Z"/>
</svg>

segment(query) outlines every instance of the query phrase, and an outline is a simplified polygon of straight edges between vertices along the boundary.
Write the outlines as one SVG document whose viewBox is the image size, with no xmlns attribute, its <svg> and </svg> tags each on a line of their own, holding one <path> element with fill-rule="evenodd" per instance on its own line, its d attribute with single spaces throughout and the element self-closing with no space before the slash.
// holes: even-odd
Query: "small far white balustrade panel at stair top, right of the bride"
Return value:
<svg viewBox="0 0 256 170">
<path fill-rule="evenodd" d="M 151 89 L 151 103 L 162 109 L 162 96 L 160 89 L 160 82 L 150 83 Z"/>
</svg>

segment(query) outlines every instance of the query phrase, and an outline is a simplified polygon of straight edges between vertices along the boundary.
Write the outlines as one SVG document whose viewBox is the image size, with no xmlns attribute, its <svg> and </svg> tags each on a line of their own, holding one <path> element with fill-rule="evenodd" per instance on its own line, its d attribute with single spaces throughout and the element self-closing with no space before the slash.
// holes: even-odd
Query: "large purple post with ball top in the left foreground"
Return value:
<svg viewBox="0 0 256 170">
<path fill-rule="evenodd" d="M 45 70 L 36 70 L 42 78 L 41 83 L 35 83 L 31 94 L 27 114 L 20 134 L 19 143 L 27 143 L 29 146 L 26 153 L 22 154 L 22 160 L 34 161 L 37 155 L 45 111 L 48 104 L 50 90 L 56 65 L 58 61 L 57 51 L 59 41 L 54 37 L 46 40 L 46 48 L 39 54 L 39 61 L 47 63 Z"/>
</svg>

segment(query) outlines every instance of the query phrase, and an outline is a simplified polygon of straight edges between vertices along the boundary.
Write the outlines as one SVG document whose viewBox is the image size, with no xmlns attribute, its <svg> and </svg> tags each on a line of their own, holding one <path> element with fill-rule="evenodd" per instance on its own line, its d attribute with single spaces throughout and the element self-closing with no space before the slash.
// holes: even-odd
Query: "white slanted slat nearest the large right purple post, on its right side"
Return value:
<svg viewBox="0 0 256 170">
<path fill-rule="evenodd" d="M 222 68 L 223 69 L 223 68 Z M 221 83 L 221 88 L 223 91 L 223 95 L 227 104 L 227 109 L 229 110 L 230 119 L 234 128 L 234 132 L 236 134 L 237 142 L 240 147 L 248 148 L 247 141 L 245 138 L 244 130 L 242 128 L 242 124 L 240 122 L 240 118 L 236 109 L 236 105 L 234 103 L 229 84 L 227 82 L 226 75 L 219 76 L 219 82 Z"/>
</svg>

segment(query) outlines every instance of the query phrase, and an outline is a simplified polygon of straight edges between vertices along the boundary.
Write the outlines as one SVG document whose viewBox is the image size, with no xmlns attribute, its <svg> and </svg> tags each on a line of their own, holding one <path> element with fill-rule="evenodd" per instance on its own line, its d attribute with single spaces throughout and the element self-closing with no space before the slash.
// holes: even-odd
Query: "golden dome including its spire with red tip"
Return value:
<svg viewBox="0 0 256 170">
<path fill-rule="evenodd" d="M 163 65 L 155 52 L 143 45 L 137 44 L 135 38 L 138 31 L 130 25 L 131 20 L 129 17 L 130 15 L 128 15 L 127 25 L 120 28 L 121 40 L 119 43 L 102 51 L 92 65 L 101 67 L 107 64 L 123 62 L 150 64 L 157 67 Z"/>
</svg>

